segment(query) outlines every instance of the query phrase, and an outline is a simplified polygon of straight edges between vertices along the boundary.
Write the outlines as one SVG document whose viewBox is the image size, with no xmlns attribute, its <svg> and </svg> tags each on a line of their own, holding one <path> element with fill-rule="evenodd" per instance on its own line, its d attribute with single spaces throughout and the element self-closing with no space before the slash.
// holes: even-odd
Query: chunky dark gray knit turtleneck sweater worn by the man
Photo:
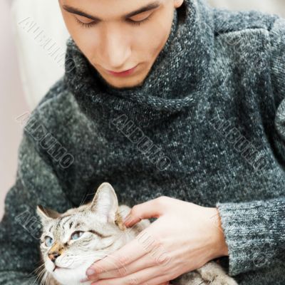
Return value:
<svg viewBox="0 0 285 285">
<path fill-rule="evenodd" d="M 36 204 L 63 212 L 105 181 L 130 207 L 161 195 L 217 206 L 228 273 L 285 284 L 285 20 L 185 4 L 135 88 L 108 85 L 68 39 L 66 73 L 18 118 L 0 285 L 35 281 Z"/>
</svg>

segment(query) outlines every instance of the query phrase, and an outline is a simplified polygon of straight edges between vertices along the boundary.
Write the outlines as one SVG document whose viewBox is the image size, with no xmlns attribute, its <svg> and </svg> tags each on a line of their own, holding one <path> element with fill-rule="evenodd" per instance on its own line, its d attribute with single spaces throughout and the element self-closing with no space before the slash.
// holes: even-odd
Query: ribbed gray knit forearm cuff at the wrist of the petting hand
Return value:
<svg viewBox="0 0 285 285">
<path fill-rule="evenodd" d="M 216 206 L 229 249 L 229 275 L 285 261 L 284 197 Z"/>
</svg>

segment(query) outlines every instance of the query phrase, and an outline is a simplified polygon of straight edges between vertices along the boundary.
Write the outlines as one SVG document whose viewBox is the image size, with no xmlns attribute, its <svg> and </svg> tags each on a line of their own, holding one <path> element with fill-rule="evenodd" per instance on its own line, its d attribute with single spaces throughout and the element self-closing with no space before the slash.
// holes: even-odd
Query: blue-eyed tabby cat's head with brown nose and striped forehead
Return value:
<svg viewBox="0 0 285 285">
<path fill-rule="evenodd" d="M 125 227 L 113 187 L 104 182 L 91 202 L 60 214 L 41 205 L 41 254 L 45 274 L 61 284 L 80 284 L 96 260 L 120 248 Z"/>
</svg>

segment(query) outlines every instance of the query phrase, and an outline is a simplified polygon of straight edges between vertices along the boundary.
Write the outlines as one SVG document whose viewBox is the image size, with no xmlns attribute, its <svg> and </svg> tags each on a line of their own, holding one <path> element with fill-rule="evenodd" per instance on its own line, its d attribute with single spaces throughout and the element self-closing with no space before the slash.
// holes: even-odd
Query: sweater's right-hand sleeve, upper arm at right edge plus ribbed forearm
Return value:
<svg viewBox="0 0 285 285">
<path fill-rule="evenodd" d="M 277 18 L 269 35 L 272 91 L 278 105 L 272 137 L 285 171 L 285 19 Z M 218 202 L 216 206 L 229 248 L 230 275 L 285 262 L 285 188 L 276 199 Z"/>
</svg>

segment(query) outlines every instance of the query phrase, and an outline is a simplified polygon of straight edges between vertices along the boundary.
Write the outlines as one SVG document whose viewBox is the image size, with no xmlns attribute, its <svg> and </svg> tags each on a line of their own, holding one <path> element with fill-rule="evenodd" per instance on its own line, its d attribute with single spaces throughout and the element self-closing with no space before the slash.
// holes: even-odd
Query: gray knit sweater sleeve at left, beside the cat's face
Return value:
<svg viewBox="0 0 285 285">
<path fill-rule="evenodd" d="M 24 130 L 16 182 L 6 195 L 0 223 L 0 285 L 40 284 L 34 271 L 40 265 L 41 235 L 36 205 L 59 211 L 71 207 L 42 150 Z"/>
</svg>

